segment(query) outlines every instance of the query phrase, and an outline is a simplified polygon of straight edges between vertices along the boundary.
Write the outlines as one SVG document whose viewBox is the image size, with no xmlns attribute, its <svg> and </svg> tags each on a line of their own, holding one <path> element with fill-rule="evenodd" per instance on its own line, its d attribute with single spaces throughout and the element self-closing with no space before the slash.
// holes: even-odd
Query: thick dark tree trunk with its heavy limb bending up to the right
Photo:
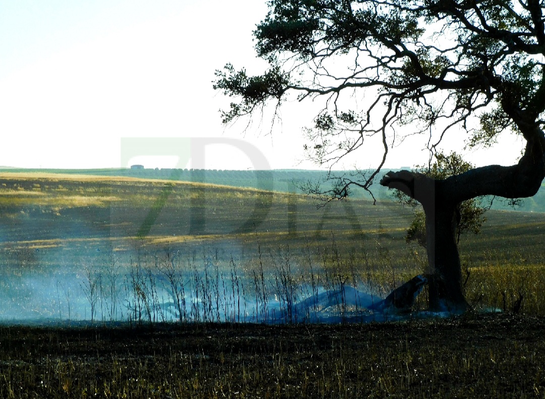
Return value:
<svg viewBox="0 0 545 399">
<path fill-rule="evenodd" d="M 530 129 L 531 128 L 531 129 Z M 422 204 L 426 214 L 426 249 L 430 268 L 429 307 L 463 312 L 462 270 L 456 244 L 456 207 L 480 195 L 524 198 L 537 193 L 545 177 L 545 135 L 531 126 L 524 156 L 512 166 L 490 165 L 445 180 L 402 170 L 387 172 L 380 184 L 395 188 Z"/>
</svg>

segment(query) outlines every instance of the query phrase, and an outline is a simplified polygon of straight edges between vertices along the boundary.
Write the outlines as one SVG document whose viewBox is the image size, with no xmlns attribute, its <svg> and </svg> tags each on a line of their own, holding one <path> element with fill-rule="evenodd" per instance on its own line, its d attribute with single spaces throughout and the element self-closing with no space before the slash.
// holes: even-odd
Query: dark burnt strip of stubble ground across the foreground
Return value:
<svg viewBox="0 0 545 399">
<path fill-rule="evenodd" d="M 545 319 L 0 327 L 0 397 L 545 397 Z"/>
</svg>

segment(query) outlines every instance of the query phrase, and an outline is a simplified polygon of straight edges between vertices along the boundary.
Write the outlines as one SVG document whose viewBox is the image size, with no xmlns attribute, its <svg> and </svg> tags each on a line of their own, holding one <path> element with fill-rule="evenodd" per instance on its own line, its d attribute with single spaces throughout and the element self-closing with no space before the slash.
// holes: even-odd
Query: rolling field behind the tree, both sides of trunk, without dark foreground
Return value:
<svg viewBox="0 0 545 399">
<path fill-rule="evenodd" d="M 210 266 L 210 279 L 228 279 L 232 288 L 236 277 L 239 291 L 254 294 L 273 291 L 265 281 L 255 286 L 258 274 L 308 285 L 322 272 L 324 283 L 380 296 L 426 271 L 423 248 L 403 239 L 409 209 L 386 201 L 317 204 L 304 195 L 213 184 L 3 172 L 0 285 L 9 306 L 0 317 L 126 319 L 121 291 L 153 289 L 127 279 L 158 275 L 156 266 L 169 258 L 189 270 L 186 279 L 203 279 Z M 460 243 L 468 299 L 478 308 L 507 310 L 522 296 L 523 311 L 545 315 L 538 294 L 545 287 L 545 214 L 489 211 L 487 218 L 480 235 Z M 36 291 L 47 303 L 31 295 Z"/>
</svg>

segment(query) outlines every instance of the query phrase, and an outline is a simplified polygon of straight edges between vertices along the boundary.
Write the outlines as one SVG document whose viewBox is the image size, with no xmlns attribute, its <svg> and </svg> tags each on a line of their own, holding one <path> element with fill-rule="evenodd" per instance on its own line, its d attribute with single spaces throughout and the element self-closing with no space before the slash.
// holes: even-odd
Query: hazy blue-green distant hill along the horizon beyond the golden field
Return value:
<svg viewBox="0 0 545 399">
<path fill-rule="evenodd" d="M 146 169 L 146 168 L 111 168 L 111 169 L 19 169 L 0 166 L 0 171 L 9 172 L 45 172 L 80 174 L 94 176 L 122 176 L 140 177 L 148 179 L 189 181 L 199 183 L 223 184 L 232 187 L 248 187 L 276 192 L 302 193 L 300 185 L 306 182 L 313 184 L 320 183 L 320 187 L 326 190 L 332 187 L 332 181 L 328 177 L 351 177 L 358 180 L 356 171 L 319 171 L 302 169 L 275 169 L 275 170 L 216 170 L 216 169 Z M 384 173 L 387 170 L 384 170 Z M 370 174 L 370 170 L 360 171 Z M 361 175 L 360 175 L 361 176 Z M 382 173 L 378 176 L 382 176 Z M 361 180 L 361 178 L 360 178 Z M 378 184 L 373 184 L 372 192 L 374 197 L 380 201 L 392 201 L 391 191 Z M 371 195 L 359 187 L 351 187 L 353 198 L 371 199 Z M 485 198 L 483 205 L 495 210 L 519 210 L 525 212 L 545 212 L 545 188 L 531 198 L 525 198 L 522 206 L 513 208 L 502 198 Z"/>
</svg>

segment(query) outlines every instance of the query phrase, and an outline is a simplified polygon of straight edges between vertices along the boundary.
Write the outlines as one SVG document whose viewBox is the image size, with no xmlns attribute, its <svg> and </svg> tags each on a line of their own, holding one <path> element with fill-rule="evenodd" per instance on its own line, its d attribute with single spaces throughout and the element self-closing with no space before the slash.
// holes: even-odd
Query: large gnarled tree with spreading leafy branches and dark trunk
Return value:
<svg viewBox="0 0 545 399">
<path fill-rule="evenodd" d="M 379 181 L 423 207 L 429 306 L 464 311 L 458 204 L 532 196 L 545 176 L 543 7 L 537 0 L 270 0 L 253 32 L 269 68 L 256 76 L 231 64 L 216 71 L 214 87 L 233 98 L 223 122 L 267 104 L 278 109 L 293 93 L 300 101 L 325 99 L 308 128 L 317 162 L 335 164 L 379 136 L 376 170 L 341 178 L 332 198 L 353 185 L 371 188 L 400 127 L 425 135 L 432 153 L 446 134 L 463 133 L 481 150 L 501 132 L 520 135 L 524 153 L 511 166 L 445 179 L 389 171 Z"/>
</svg>

